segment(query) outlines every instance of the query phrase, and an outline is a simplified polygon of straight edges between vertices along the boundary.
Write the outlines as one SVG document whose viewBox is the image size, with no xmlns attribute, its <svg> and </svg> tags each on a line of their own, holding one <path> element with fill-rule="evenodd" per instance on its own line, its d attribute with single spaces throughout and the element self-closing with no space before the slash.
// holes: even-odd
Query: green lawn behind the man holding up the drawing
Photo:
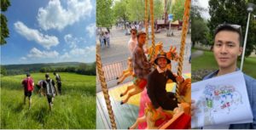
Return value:
<svg viewBox="0 0 256 130">
<path fill-rule="evenodd" d="M 195 52 L 195 48 L 194 48 Z M 241 62 L 237 62 L 237 67 L 240 68 Z M 246 73 L 248 76 L 252 76 L 253 78 L 256 78 L 256 58 L 248 57 L 245 59 L 243 64 L 243 72 Z M 204 54 L 196 57 L 191 60 L 191 70 L 197 71 L 200 69 L 218 69 L 217 62 L 214 59 L 213 53 L 210 51 L 204 51 Z M 192 77 L 193 78 L 193 77 Z"/>
</svg>

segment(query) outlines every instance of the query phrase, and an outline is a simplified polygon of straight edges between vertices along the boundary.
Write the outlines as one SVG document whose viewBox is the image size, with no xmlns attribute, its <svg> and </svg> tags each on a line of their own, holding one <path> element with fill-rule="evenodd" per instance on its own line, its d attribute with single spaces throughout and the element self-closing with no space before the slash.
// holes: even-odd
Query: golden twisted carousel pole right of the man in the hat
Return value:
<svg viewBox="0 0 256 130">
<path fill-rule="evenodd" d="M 187 31 L 188 31 L 188 25 L 189 25 L 189 10 L 190 10 L 190 2 L 191 0 L 186 0 L 185 2 L 185 10 L 183 15 L 183 31 L 182 31 L 182 38 L 181 38 L 181 47 L 179 51 L 179 59 L 178 59 L 178 66 L 177 66 L 177 75 L 182 76 L 183 73 L 183 57 L 184 57 L 184 49 L 186 44 L 186 37 L 187 37 Z M 181 82 L 177 83 L 176 88 L 176 95 L 179 96 L 179 86 Z"/>
</svg>

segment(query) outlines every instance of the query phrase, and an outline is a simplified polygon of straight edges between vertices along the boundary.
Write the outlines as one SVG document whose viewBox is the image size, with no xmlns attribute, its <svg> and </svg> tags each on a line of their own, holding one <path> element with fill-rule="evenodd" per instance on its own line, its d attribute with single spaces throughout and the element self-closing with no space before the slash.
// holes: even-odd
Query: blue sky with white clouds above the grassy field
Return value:
<svg viewBox="0 0 256 130">
<path fill-rule="evenodd" d="M 11 0 L 1 65 L 96 61 L 95 0 Z"/>
</svg>

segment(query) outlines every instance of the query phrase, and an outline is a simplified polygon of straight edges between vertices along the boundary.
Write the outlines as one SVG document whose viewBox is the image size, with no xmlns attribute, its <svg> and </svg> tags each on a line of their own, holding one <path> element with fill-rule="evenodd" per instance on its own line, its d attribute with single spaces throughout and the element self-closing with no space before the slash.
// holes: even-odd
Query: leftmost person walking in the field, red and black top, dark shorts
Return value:
<svg viewBox="0 0 256 130">
<path fill-rule="evenodd" d="M 34 89 L 34 82 L 29 73 L 26 74 L 26 78 L 21 82 L 24 88 L 24 105 L 26 105 L 26 97 L 29 100 L 29 110 L 32 105 L 32 91 Z"/>
</svg>

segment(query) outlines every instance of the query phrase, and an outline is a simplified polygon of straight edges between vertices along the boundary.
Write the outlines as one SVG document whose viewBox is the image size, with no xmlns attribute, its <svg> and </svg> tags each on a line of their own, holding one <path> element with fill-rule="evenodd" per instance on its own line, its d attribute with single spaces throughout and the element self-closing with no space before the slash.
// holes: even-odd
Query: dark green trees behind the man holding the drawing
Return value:
<svg viewBox="0 0 256 130">
<path fill-rule="evenodd" d="M 247 28 L 247 2 L 256 3 L 256 0 L 209 0 L 209 14 L 211 19 L 208 22 L 210 29 L 209 37 L 213 39 L 214 30 L 219 24 L 229 23 L 241 25 L 243 38 Z M 252 14 L 256 13 L 256 8 Z M 209 40 L 210 40 L 209 39 Z M 243 41 L 242 41 L 243 43 Z M 213 44 L 213 42 L 212 42 Z M 251 17 L 247 35 L 247 48 L 245 55 L 249 56 L 256 49 L 256 21 Z"/>
</svg>

